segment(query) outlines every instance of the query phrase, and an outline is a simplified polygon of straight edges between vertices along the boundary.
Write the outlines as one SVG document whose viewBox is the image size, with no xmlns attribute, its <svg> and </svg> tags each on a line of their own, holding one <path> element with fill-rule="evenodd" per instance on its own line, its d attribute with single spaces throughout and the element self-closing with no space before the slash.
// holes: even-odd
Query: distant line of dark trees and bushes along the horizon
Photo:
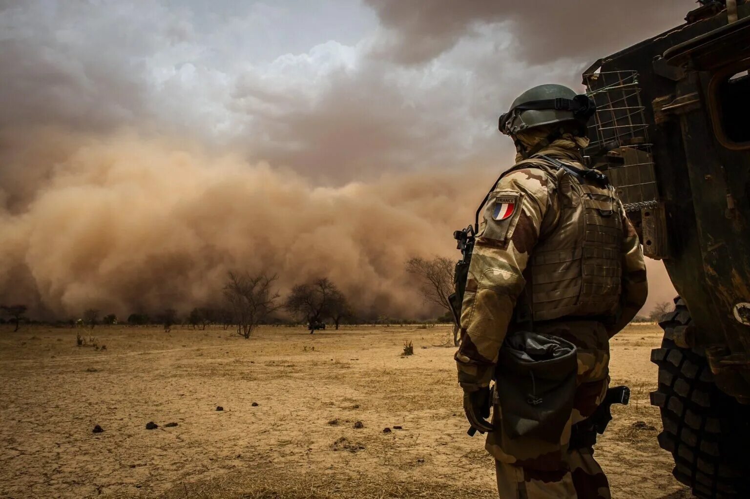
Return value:
<svg viewBox="0 0 750 499">
<path fill-rule="evenodd" d="M 406 270 L 416 277 L 415 288 L 425 298 L 425 302 L 443 308 L 444 313 L 437 320 L 428 323 L 452 322 L 448 296 L 452 293 L 452 261 L 444 257 L 431 260 L 412 258 L 406 263 Z M 55 326 L 71 326 L 94 329 L 96 326 L 147 326 L 160 324 L 166 332 L 180 324 L 193 329 L 205 330 L 208 326 L 233 327 L 236 334 L 250 338 L 260 325 L 308 325 L 314 333 L 323 323 L 339 329 L 344 323 L 392 326 L 397 324 L 419 324 L 424 320 L 388 317 L 380 314 L 369 316 L 358 313 L 350 304 L 346 294 L 326 277 L 311 278 L 295 284 L 289 295 L 282 299 L 276 283 L 278 276 L 267 272 L 227 272 L 220 293 L 212 304 L 202 305 L 179 317 L 174 308 L 160 312 L 133 311 L 122 320 L 116 314 L 102 314 L 97 308 L 86 308 L 80 317 L 57 320 Z M 21 323 L 33 321 L 25 316 L 26 305 L 1 305 L 0 323 L 10 322 L 15 331 Z M 287 314 L 281 314 L 286 311 Z"/>
</svg>

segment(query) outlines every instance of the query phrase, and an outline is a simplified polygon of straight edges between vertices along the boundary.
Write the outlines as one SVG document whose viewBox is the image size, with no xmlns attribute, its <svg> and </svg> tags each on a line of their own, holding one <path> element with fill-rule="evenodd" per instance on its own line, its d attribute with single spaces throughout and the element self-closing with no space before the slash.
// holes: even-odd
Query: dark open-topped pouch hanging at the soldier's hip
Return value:
<svg viewBox="0 0 750 499">
<path fill-rule="evenodd" d="M 529 331 L 509 334 L 495 374 L 503 433 L 559 444 L 573 411 L 577 370 L 569 341 Z"/>
</svg>

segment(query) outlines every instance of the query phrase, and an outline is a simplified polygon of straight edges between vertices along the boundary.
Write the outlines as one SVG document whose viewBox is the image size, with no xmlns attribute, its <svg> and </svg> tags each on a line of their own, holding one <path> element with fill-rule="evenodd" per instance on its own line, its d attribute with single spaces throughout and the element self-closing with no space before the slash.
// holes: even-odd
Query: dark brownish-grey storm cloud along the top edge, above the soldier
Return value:
<svg viewBox="0 0 750 499">
<path fill-rule="evenodd" d="M 529 64 L 560 57 L 604 56 L 679 25 L 690 0 L 365 0 L 389 29 L 381 55 L 404 64 L 426 62 L 449 50 L 477 26 L 503 23 Z"/>
</svg>

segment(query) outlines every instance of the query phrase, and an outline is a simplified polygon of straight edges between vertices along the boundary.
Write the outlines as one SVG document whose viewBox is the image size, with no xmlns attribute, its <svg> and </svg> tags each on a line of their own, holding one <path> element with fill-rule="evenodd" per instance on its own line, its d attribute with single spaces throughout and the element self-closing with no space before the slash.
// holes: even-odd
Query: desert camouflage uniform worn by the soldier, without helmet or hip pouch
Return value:
<svg viewBox="0 0 750 499">
<path fill-rule="evenodd" d="M 499 497 L 610 497 L 593 449 L 569 449 L 568 440 L 571 425 L 604 398 L 609 338 L 645 302 L 646 267 L 613 188 L 579 182 L 540 158 L 585 170 L 582 141 L 566 134 L 520 161 L 482 208 L 455 354 L 461 386 L 471 391 L 490 384 L 505 335 L 521 327 L 513 320 L 519 308 L 532 314 L 535 332 L 577 347 L 574 408 L 559 443 L 508 437 L 495 407 L 486 449 L 496 459 Z M 513 205 L 507 218 L 497 216 L 499 203 L 505 213 Z"/>
</svg>

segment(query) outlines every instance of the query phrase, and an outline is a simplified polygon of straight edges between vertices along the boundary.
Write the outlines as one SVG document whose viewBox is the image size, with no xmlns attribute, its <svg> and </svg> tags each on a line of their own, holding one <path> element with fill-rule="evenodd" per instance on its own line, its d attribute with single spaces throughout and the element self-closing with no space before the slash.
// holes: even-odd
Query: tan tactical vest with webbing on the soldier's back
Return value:
<svg viewBox="0 0 750 499">
<path fill-rule="evenodd" d="M 524 167 L 547 173 L 558 206 L 542 221 L 517 308 L 530 309 L 535 321 L 614 317 L 622 293 L 622 219 L 614 188 L 542 158 L 520 161 L 511 170 Z"/>
</svg>

